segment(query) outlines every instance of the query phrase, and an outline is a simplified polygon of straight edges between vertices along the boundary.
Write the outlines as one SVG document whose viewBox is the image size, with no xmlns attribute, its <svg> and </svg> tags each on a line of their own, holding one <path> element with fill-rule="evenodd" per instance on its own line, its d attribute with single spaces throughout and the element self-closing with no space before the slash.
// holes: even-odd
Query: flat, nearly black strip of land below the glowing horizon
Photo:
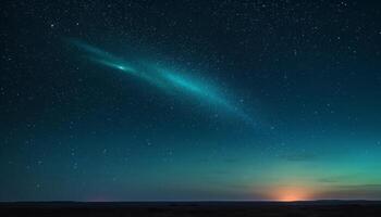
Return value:
<svg viewBox="0 0 381 217">
<path fill-rule="evenodd" d="M 381 217 L 381 202 L 0 203 L 0 216 L 358 216 Z"/>
</svg>

